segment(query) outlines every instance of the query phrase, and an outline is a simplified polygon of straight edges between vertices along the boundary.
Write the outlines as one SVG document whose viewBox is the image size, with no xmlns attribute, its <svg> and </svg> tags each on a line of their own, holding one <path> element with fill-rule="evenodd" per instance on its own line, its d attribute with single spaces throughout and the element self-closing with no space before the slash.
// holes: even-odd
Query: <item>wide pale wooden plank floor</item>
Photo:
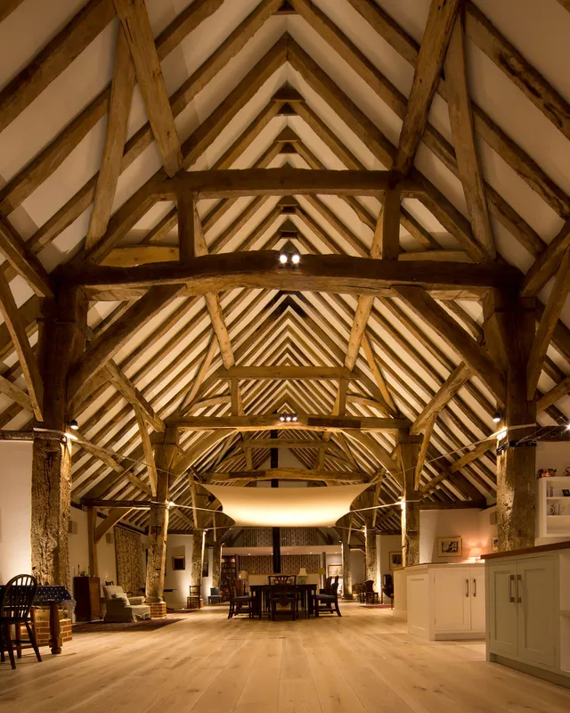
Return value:
<svg viewBox="0 0 570 713">
<path fill-rule="evenodd" d="M 154 632 L 76 635 L 60 656 L 0 664 L 3 713 L 568 713 L 570 691 L 429 643 L 389 610 L 318 620 L 226 619 L 213 607 Z"/>
</svg>

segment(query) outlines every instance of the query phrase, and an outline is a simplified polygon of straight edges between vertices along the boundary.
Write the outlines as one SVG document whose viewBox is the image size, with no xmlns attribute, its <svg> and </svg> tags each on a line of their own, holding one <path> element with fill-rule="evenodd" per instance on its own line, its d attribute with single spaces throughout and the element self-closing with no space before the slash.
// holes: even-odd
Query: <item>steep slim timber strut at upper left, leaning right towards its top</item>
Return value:
<svg viewBox="0 0 570 713">
<path fill-rule="evenodd" d="M 119 28 L 115 72 L 110 86 L 105 144 L 85 237 L 86 250 L 91 249 L 101 240 L 109 224 L 110 211 L 117 193 L 118 176 L 121 172 L 133 90 L 134 64 L 126 42 L 125 31 Z"/>
</svg>

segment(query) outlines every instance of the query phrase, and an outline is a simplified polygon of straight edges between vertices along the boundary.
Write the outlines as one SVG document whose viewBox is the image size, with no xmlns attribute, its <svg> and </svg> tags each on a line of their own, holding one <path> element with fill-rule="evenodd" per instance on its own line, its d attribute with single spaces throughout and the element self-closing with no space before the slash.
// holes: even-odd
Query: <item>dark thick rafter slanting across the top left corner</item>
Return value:
<svg viewBox="0 0 570 713">
<path fill-rule="evenodd" d="M 0 131 L 69 67 L 114 16 L 111 0 L 90 0 L 77 12 L 28 67 L 21 70 L 0 92 Z"/>
</svg>

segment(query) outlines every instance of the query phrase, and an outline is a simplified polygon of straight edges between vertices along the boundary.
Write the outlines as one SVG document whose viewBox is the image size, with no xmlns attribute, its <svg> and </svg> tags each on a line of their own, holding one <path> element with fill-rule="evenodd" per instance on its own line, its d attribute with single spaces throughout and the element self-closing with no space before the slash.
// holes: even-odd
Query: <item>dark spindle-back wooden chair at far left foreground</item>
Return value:
<svg viewBox="0 0 570 713">
<path fill-rule="evenodd" d="M 13 644 L 16 644 L 18 658 L 21 658 L 22 643 L 31 643 L 36 658 L 42 660 L 37 648 L 36 634 L 30 626 L 30 611 L 37 592 L 37 580 L 30 574 L 19 574 L 4 586 L 4 593 L 0 601 L 0 660 L 4 663 L 4 651 L 8 652 L 12 668 L 16 668 Z M 28 631 L 28 641 L 21 639 L 21 627 L 26 627 Z M 12 638 L 11 628 L 15 629 L 15 637 Z M 4 648 L 5 647 L 5 648 Z"/>
</svg>

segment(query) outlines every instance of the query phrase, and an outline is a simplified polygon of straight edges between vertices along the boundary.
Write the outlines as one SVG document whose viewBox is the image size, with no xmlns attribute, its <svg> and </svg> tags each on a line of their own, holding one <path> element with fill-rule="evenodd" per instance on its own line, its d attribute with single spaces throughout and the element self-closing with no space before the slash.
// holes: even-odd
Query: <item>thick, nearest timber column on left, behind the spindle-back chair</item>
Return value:
<svg viewBox="0 0 570 713">
<path fill-rule="evenodd" d="M 54 298 L 42 300 L 37 359 L 44 383 L 43 422 L 53 430 L 33 446 L 31 492 L 32 573 L 40 584 L 71 585 L 68 526 L 71 508 L 71 442 L 65 432 L 69 368 L 85 345 L 87 299 L 78 288 L 59 286 Z M 47 438 L 52 436 L 52 438 Z"/>
</svg>

